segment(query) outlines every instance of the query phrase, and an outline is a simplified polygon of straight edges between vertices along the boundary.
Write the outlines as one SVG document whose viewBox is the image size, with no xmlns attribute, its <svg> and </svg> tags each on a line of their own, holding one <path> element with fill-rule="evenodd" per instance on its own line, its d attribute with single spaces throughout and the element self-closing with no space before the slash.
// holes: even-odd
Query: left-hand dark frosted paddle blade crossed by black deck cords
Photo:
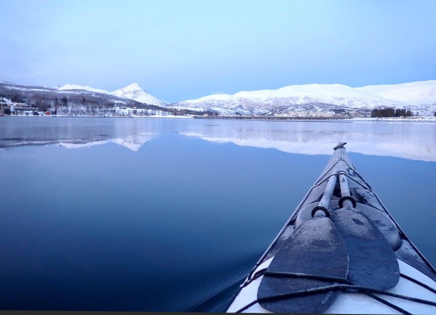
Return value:
<svg viewBox="0 0 436 315">
<path fill-rule="evenodd" d="M 341 234 L 332 221 L 325 217 L 315 217 L 301 223 L 283 243 L 267 269 L 267 272 L 303 273 L 342 279 L 346 279 L 347 271 L 348 255 Z M 331 284 L 334 283 L 265 275 L 259 285 L 257 298 L 271 298 Z M 340 291 L 329 291 L 260 301 L 259 304 L 275 313 L 322 313 L 339 294 Z"/>
</svg>

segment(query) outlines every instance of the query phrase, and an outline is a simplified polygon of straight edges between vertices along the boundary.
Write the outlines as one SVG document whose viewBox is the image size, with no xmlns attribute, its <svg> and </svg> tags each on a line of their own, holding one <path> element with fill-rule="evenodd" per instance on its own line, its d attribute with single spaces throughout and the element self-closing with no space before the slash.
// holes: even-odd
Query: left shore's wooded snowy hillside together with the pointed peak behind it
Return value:
<svg viewBox="0 0 436 315">
<path fill-rule="evenodd" d="M 119 94 L 121 96 L 118 96 L 114 95 L 118 93 L 112 94 L 83 85 L 67 84 L 62 87 L 47 88 L 0 82 L 0 99 L 6 103 L 19 103 L 21 107 L 17 107 L 18 115 L 35 115 L 33 112 L 37 114 L 46 111 L 58 116 L 105 117 L 169 117 L 204 114 L 201 111 L 179 111 L 168 108 L 164 102 L 149 95 L 137 84 L 121 91 L 123 90 L 125 93 L 121 92 Z"/>
</svg>

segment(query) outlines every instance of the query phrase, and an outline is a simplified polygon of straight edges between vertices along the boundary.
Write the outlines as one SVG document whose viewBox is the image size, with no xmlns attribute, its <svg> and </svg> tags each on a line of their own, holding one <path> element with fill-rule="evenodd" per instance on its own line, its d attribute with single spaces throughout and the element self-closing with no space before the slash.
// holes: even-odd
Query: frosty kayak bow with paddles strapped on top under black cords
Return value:
<svg viewBox="0 0 436 315">
<path fill-rule="evenodd" d="M 339 143 L 334 148 L 334 153 L 321 175 L 249 272 L 231 300 L 227 312 L 436 314 L 435 268 L 409 240 L 378 195 L 358 173 L 347 156 L 345 144 Z M 335 187 L 332 186 L 332 179 L 335 179 Z M 330 187 L 327 187 L 328 185 Z M 341 216 L 338 217 L 339 214 Z M 306 254 L 309 256 L 315 254 L 313 257 L 318 257 L 320 260 L 313 258 L 314 261 L 318 261 L 321 265 L 323 259 L 334 261 L 335 257 L 328 258 L 329 256 L 323 256 L 322 253 L 323 248 L 333 249 L 336 246 L 328 242 L 331 236 L 319 234 L 319 231 L 312 233 L 317 231 L 317 228 L 329 228 L 329 224 L 319 225 L 327 221 L 315 220 L 315 218 L 318 220 L 324 218 L 324 215 L 326 219 L 321 220 L 327 221 L 330 221 L 327 218 L 333 215 L 335 219 L 333 225 L 340 224 L 340 233 L 348 240 L 346 251 L 351 255 L 349 257 L 354 257 L 350 261 L 349 272 L 352 274 L 347 272 L 348 276 L 335 277 L 329 272 L 320 274 L 319 270 L 315 271 L 316 263 L 312 263 L 311 258 L 305 257 Z M 312 223 L 308 224 L 310 221 Z M 369 232 L 368 228 L 373 232 Z M 309 237 L 302 238 L 300 234 Z M 321 240 L 325 237 L 327 243 L 323 245 L 324 247 L 313 247 L 314 244 L 323 242 Z M 370 237 L 374 245 L 378 245 L 373 248 L 370 243 L 367 244 L 368 241 L 365 241 L 366 237 Z M 361 246 L 367 248 L 367 253 L 363 256 Z M 299 256 L 300 247 L 309 251 Z M 372 255 L 375 253 L 373 251 L 379 253 Z M 390 257 L 395 258 L 383 257 L 380 260 L 372 257 L 382 257 L 388 252 L 394 255 Z M 370 263 L 365 257 L 370 259 Z M 305 267 L 298 265 L 299 259 L 302 259 L 301 262 Z M 303 263 L 305 259 L 309 260 Z M 374 259 L 375 265 L 378 265 L 373 267 L 371 259 Z M 397 267 L 394 267 L 392 259 L 395 260 L 395 265 L 398 262 Z M 368 266 L 364 267 L 361 264 Z M 398 266 L 400 266 L 399 271 Z M 314 268 L 314 273 L 311 272 L 311 268 Z M 384 268 L 387 268 L 387 274 L 384 273 Z M 303 272 L 298 272 L 300 269 Z M 391 280 L 378 280 L 377 273 L 381 278 L 387 277 L 386 279 Z M 348 277 L 351 275 L 354 275 L 354 279 L 361 284 L 350 281 Z M 370 278 L 364 279 L 366 277 Z M 267 281 L 267 279 L 271 280 Z M 298 289 L 299 287 L 302 289 Z M 337 294 L 339 296 L 332 297 L 333 292 L 338 292 L 336 296 Z M 314 301 L 313 297 L 319 297 L 319 294 L 327 294 L 325 296 L 326 299 L 330 299 L 329 302 L 321 306 L 310 305 L 311 301 Z M 325 304 L 326 299 L 320 303 Z"/>
</svg>

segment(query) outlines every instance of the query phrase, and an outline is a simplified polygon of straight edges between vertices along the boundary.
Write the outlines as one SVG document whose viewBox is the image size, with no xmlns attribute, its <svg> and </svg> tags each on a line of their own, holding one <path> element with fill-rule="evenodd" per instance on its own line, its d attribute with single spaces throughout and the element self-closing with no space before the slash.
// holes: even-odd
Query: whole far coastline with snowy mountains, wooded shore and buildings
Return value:
<svg viewBox="0 0 436 315">
<path fill-rule="evenodd" d="M 427 117 L 436 112 L 436 80 L 351 88 L 306 84 L 217 94 L 168 104 L 137 84 L 114 92 L 89 86 L 56 88 L 0 82 L 0 113 L 59 116 Z M 7 107 L 7 109 L 6 109 Z M 26 112 L 26 113 L 25 113 Z"/>
</svg>

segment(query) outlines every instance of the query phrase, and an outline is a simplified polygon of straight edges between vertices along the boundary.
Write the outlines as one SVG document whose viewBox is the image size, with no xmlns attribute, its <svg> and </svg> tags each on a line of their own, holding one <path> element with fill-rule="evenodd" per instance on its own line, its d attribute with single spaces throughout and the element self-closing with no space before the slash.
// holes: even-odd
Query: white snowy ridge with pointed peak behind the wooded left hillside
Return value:
<svg viewBox="0 0 436 315">
<path fill-rule="evenodd" d="M 125 88 L 113 92 L 108 92 L 101 89 L 95 89 L 88 85 L 76 85 L 76 84 L 65 84 L 62 87 L 55 87 L 55 89 L 61 91 L 77 91 L 78 93 L 80 93 L 80 91 L 88 91 L 93 93 L 114 95 L 121 98 L 133 99 L 136 100 L 137 102 L 149 104 L 149 105 L 157 105 L 157 106 L 166 105 L 164 101 L 144 91 L 144 89 L 142 89 L 137 83 L 132 83 L 126 86 Z"/>
</svg>

